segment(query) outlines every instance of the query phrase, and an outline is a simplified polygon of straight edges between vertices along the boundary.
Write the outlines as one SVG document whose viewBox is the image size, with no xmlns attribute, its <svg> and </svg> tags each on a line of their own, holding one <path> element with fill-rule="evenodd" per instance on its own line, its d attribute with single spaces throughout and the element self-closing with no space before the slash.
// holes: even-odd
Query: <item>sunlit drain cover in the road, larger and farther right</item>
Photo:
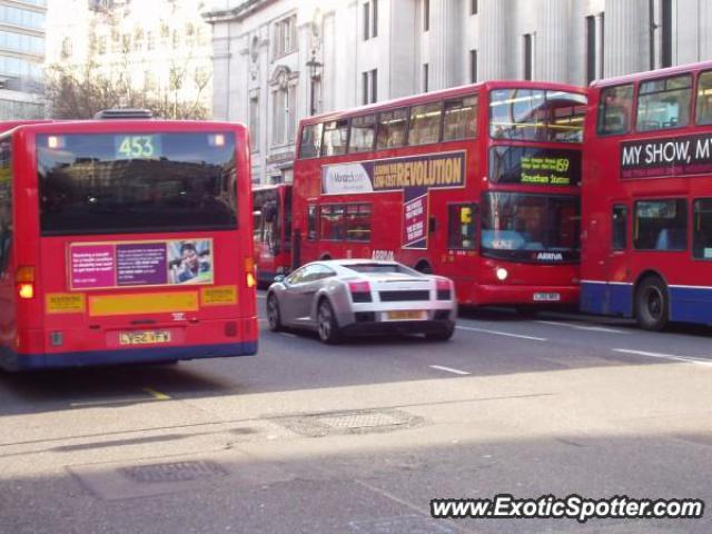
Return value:
<svg viewBox="0 0 712 534">
<path fill-rule="evenodd" d="M 307 414 L 274 419 L 288 429 L 308 437 L 335 434 L 367 434 L 412 428 L 424 423 L 422 417 L 398 409 L 354 409 Z"/>
</svg>

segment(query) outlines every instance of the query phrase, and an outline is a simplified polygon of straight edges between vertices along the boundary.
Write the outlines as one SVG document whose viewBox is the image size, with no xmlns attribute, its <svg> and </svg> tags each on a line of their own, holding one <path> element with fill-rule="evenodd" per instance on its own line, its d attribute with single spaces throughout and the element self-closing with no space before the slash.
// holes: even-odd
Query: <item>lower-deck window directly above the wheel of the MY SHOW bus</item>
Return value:
<svg viewBox="0 0 712 534">
<path fill-rule="evenodd" d="M 635 202 L 633 246 L 637 250 L 688 248 L 688 202 L 682 199 Z"/>
</svg>

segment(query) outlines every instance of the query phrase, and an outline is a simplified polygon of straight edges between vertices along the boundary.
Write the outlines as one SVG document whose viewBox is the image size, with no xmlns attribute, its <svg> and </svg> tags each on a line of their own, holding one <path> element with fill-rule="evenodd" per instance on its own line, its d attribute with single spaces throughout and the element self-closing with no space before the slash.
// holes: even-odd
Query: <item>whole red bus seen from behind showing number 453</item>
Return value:
<svg viewBox="0 0 712 534">
<path fill-rule="evenodd" d="M 148 119 L 0 135 L 0 366 L 255 354 L 247 139 Z"/>
</svg>

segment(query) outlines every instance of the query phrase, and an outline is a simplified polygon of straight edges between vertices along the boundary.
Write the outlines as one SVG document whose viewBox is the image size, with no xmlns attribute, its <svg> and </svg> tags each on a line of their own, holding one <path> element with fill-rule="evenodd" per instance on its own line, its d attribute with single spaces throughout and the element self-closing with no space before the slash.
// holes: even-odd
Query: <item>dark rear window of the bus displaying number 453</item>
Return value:
<svg viewBox="0 0 712 534">
<path fill-rule="evenodd" d="M 44 236 L 237 228 L 233 132 L 39 135 Z"/>
</svg>

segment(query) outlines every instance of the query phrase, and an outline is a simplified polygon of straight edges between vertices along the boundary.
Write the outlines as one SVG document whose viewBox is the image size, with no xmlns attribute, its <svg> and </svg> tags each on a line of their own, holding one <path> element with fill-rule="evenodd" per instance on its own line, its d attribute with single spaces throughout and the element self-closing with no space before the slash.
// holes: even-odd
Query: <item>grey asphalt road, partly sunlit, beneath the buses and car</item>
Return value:
<svg viewBox="0 0 712 534">
<path fill-rule="evenodd" d="M 712 504 L 711 338 L 465 312 L 447 343 L 264 332 L 257 357 L 0 374 L 0 532 L 709 533 L 709 510 L 580 524 L 429 506 Z"/>
</svg>

